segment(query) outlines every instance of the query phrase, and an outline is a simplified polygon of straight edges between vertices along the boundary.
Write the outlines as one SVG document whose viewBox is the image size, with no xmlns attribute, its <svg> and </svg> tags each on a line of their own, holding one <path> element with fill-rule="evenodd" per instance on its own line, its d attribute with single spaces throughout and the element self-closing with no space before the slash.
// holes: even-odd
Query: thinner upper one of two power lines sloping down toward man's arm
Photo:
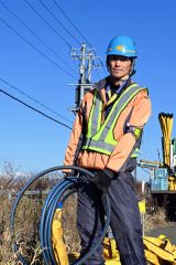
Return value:
<svg viewBox="0 0 176 265">
<path fill-rule="evenodd" d="M 30 96 L 29 94 L 22 92 L 21 89 L 19 89 L 16 86 L 10 84 L 9 82 L 4 81 L 3 78 L 0 77 L 0 81 L 2 81 L 6 85 L 12 87 L 13 89 L 18 91 L 19 93 L 21 93 L 22 95 L 24 95 L 25 97 L 32 99 L 33 102 L 37 103 L 38 105 L 41 105 L 42 107 L 46 108 L 47 110 L 52 112 L 53 114 L 57 115 L 58 117 L 67 120 L 68 123 L 73 124 L 72 120 L 65 118 L 63 115 L 56 113 L 55 110 L 53 110 L 52 108 L 45 106 L 43 103 L 38 102 L 37 99 L 35 99 L 34 97 Z"/>
</svg>

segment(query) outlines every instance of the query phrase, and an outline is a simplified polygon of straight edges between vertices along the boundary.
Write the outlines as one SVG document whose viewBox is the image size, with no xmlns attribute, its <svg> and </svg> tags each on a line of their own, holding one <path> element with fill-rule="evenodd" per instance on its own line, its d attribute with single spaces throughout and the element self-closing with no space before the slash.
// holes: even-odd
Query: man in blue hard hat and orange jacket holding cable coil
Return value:
<svg viewBox="0 0 176 265">
<path fill-rule="evenodd" d="M 131 38 L 120 35 L 112 39 L 107 51 L 110 75 L 85 95 L 64 161 L 65 166 L 76 165 L 95 173 L 92 181 L 80 176 L 77 222 L 81 254 L 100 236 L 105 224 L 102 194 L 108 192 L 110 226 L 122 265 L 146 264 L 131 172 L 136 167 L 151 102 L 147 89 L 131 80 L 136 57 Z M 105 264 L 102 245 L 85 264 Z"/>
</svg>

